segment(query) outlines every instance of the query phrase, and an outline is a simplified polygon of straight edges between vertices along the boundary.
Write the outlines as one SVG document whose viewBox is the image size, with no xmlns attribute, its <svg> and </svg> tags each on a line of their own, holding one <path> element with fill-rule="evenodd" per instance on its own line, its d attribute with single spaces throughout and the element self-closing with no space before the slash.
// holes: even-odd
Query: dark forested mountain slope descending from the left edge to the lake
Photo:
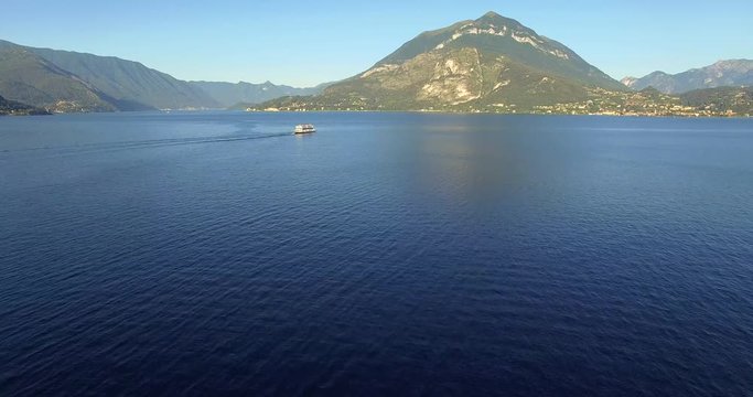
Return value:
<svg viewBox="0 0 753 397">
<path fill-rule="evenodd" d="M 0 95 L 53 111 L 219 107 L 203 90 L 137 62 L 6 41 Z"/>
</svg>

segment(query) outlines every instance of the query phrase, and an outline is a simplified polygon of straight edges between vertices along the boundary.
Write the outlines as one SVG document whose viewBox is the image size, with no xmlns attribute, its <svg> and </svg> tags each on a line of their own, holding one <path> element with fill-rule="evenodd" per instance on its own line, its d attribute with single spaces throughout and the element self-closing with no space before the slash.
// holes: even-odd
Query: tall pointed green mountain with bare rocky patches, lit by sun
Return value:
<svg viewBox="0 0 753 397">
<path fill-rule="evenodd" d="M 587 100 L 599 89 L 625 87 L 567 46 L 490 12 L 423 32 L 322 95 L 263 106 L 514 111 Z"/>
</svg>

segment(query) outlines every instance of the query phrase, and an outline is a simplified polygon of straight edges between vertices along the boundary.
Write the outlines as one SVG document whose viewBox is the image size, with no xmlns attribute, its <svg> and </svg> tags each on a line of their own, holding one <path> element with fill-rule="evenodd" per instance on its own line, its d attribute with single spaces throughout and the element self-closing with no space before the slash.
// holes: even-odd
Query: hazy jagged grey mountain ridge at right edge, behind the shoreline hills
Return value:
<svg viewBox="0 0 753 397">
<path fill-rule="evenodd" d="M 647 76 L 625 77 L 622 83 L 633 89 L 655 87 L 665 94 L 682 94 L 693 89 L 753 85 L 753 61 L 719 61 L 713 65 L 670 75 L 654 72 Z"/>
</svg>

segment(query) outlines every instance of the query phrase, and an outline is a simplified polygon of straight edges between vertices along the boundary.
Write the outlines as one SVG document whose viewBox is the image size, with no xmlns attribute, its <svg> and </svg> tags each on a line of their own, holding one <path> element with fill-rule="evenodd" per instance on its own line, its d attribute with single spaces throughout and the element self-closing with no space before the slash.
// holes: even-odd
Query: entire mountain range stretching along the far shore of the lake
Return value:
<svg viewBox="0 0 753 397">
<path fill-rule="evenodd" d="M 0 112 L 18 115 L 230 107 L 750 116 L 752 83 L 749 60 L 616 82 L 494 12 L 423 32 L 355 76 L 310 88 L 184 82 L 138 62 L 0 40 Z"/>
</svg>

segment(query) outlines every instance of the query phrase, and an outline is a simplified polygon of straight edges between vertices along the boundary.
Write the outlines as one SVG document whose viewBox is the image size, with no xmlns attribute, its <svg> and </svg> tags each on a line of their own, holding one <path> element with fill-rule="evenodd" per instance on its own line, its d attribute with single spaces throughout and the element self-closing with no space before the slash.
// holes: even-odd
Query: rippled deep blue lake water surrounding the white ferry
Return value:
<svg viewBox="0 0 753 397">
<path fill-rule="evenodd" d="M 750 119 L 0 118 L 0 189 L 2 396 L 753 395 Z"/>
</svg>

